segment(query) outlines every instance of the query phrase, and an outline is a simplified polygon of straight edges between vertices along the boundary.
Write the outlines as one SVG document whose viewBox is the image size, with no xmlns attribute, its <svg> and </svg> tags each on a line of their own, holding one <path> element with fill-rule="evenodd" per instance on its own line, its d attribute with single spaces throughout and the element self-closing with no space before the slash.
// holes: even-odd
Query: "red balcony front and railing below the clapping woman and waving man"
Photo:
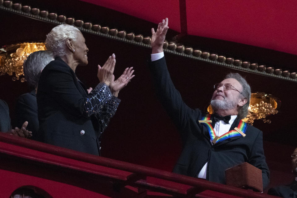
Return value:
<svg viewBox="0 0 297 198">
<path fill-rule="evenodd" d="M 5 133 L 0 159 L 2 197 L 23 186 L 52 197 L 274 197 Z"/>
</svg>

